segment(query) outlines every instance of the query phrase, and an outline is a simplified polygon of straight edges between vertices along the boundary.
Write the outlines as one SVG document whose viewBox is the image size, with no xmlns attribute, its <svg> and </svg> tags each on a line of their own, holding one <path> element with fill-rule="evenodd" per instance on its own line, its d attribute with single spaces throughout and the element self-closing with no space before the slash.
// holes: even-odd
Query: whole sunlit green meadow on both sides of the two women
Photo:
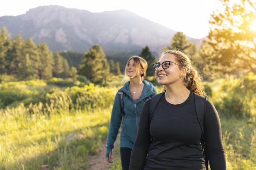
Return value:
<svg viewBox="0 0 256 170">
<path fill-rule="evenodd" d="M 104 87 L 70 79 L 3 81 L 0 170 L 86 169 L 107 137 L 121 80 L 109 77 Z M 256 170 L 256 76 L 216 79 L 205 88 L 221 119 L 227 170 Z M 110 170 L 118 169 L 119 156 Z"/>
</svg>

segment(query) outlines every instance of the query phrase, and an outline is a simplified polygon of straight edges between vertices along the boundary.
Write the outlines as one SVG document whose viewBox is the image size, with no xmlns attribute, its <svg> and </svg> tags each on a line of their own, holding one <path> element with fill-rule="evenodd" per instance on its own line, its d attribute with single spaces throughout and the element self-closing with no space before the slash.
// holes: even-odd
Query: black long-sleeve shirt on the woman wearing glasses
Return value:
<svg viewBox="0 0 256 170">
<path fill-rule="evenodd" d="M 137 139 L 131 153 L 129 170 L 205 170 L 201 147 L 201 128 L 190 93 L 185 102 L 172 105 L 165 95 L 149 117 L 150 100 L 140 118 Z M 226 170 L 218 113 L 207 100 L 204 138 L 211 170 Z"/>
</svg>

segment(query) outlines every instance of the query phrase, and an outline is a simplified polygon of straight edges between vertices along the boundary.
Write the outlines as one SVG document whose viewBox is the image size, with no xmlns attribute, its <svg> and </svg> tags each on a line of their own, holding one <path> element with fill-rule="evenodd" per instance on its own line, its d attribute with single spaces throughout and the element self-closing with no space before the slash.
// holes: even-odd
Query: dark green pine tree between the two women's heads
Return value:
<svg viewBox="0 0 256 170">
<path fill-rule="evenodd" d="M 154 70 L 152 68 L 152 65 L 157 62 L 157 58 L 154 57 L 154 55 L 149 50 L 148 46 L 145 46 L 145 48 L 142 48 L 142 51 L 140 52 L 139 56 L 145 59 L 148 63 L 148 69 L 146 71 L 146 75 L 154 76 Z"/>
</svg>

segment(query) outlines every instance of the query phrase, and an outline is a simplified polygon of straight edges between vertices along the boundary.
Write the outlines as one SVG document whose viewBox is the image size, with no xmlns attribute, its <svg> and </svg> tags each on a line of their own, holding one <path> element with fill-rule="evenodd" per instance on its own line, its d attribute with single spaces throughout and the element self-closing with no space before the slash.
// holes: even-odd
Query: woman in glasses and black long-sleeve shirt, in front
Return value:
<svg viewBox="0 0 256 170">
<path fill-rule="evenodd" d="M 153 65 L 158 83 L 165 86 L 154 114 L 145 102 L 131 153 L 129 170 L 205 170 L 202 130 L 193 93 L 206 96 L 190 59 L 180 51 L 166 51 Z M 226 170 L 218 113 L 209 100 L 204 115 L 204 142 L 211 170 Z"/>
</svg>

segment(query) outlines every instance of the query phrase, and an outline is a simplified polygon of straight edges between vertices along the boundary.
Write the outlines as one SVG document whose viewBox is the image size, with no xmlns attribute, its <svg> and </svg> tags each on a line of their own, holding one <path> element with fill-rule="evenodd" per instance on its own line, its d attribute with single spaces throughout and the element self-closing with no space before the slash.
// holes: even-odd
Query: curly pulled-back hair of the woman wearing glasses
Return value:
<svg viewBox="0 0 256 170">
<path fill-rule="evenodd" d="M 167 50 L 162 53 L 162 55 L 164 54 L 175 55 L 175 60 L 179 63 L 179 67 L 186 69 L 186 75 L 184 76 L 183 82 L 187 89 L 201 96 L 207 96 L 204 91 L 203 78 L 192 66 L 191 61 L 186 54 L 176 50 Z"/>
</svg>

